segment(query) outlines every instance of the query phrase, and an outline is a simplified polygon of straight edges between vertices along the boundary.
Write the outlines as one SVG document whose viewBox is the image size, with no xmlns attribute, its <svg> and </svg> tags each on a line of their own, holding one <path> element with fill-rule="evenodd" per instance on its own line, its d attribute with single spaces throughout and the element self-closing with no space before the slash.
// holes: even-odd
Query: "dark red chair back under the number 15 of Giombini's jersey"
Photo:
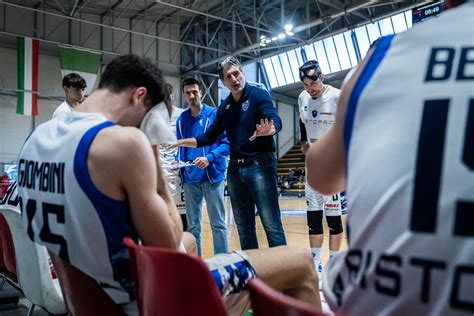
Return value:
<svg viewBox="0 0 474 316">
<path fill-rule="evenodd" d="M 96 280 L 49 251 L 56 268 L 69 315 L 125 315 Z"/>
</svg>

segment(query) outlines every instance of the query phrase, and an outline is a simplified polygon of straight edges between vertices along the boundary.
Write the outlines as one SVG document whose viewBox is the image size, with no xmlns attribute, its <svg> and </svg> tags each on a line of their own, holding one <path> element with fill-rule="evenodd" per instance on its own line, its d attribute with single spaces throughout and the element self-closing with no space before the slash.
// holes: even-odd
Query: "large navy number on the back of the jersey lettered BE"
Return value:
<svg viewBox="0 0 474 316">
<path fill-rule="evenodd" d="M 436 232 L 449 106 L 449 99 L 425 101 L 411 209 L 414 232 Z M 474 99 L 469 100 L 465 131 L 461 161 L 474 171 Z M 474 201 L 456 201 L 454 216 L 453 235 L 474 237 Z"/>
</svg>

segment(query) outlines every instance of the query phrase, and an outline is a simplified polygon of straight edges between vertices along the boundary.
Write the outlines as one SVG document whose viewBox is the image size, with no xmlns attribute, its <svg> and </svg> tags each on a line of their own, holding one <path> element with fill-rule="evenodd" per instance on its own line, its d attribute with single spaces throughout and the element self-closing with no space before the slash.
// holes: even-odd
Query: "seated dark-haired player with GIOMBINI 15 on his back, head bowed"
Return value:
<svg viewBox="0 0 474 316">
<path fill-rule="evenodd" d="M 98 89 L 75 112 L 30 134 L 18 160 L 23 225 L 30 238 L 97 280 L 129 313 L 138 311 L 123 237 L 177 250 L 183 236 L 167 186 L 157 194 L 157 179 L 165 183 L 162 171 L 145 135 L 135 128 L 153 104 L 163 101 L 163 84 L 150 61 L 115 58 Z M 243 291 L 258 275 L 320 308 L 318 279 L 304 248 L 236 251 L 206 263 L 229 304 L 247 302 Z"/>
</svg>

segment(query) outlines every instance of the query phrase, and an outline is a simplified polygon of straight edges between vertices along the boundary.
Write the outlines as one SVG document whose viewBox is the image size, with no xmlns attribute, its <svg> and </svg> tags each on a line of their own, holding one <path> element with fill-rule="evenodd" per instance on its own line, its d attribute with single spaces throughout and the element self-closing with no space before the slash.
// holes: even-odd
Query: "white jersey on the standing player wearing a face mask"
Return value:
<svg viewBox="0 0 474 316">
<path fill-rule="evenodd" d="M 321 138 L 336 120 L 337 101 L 341 90 L 329 85 L 326 87 L 326 91 L 315 100 L 306 90 L 298 97 L 300 117 L 306 127 L 309 143 Z"/>
</svg>

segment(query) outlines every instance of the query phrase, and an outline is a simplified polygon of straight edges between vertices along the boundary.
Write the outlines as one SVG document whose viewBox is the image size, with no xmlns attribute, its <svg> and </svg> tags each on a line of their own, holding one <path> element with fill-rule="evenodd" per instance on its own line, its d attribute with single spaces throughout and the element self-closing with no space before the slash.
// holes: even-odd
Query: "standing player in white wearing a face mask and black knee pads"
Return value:
<svg viewBox="0 0 474 316">
<path fill-rule="evenodd" d="M 341 91 L 323 84 L 324 74 L 316 60 L 310 60 L 299 68 L 304 89 L 298 97 L 300 119 L 303 122 L 306 140 L 301 140 L 301 150 L 307 150 L 323 136 L 333 125 L 337 113 L 337 101 Z M 309 244 L 318 273 L 323 270 L 321 248 L 324 240 L 323 213 L 329 227 L 329 258 L 341 248 L 342 242 L 342 201 L 341 194 L 323 195 L 305 183 L 305 196 L 308 205 L 307 221 Z"/>
</svg>

